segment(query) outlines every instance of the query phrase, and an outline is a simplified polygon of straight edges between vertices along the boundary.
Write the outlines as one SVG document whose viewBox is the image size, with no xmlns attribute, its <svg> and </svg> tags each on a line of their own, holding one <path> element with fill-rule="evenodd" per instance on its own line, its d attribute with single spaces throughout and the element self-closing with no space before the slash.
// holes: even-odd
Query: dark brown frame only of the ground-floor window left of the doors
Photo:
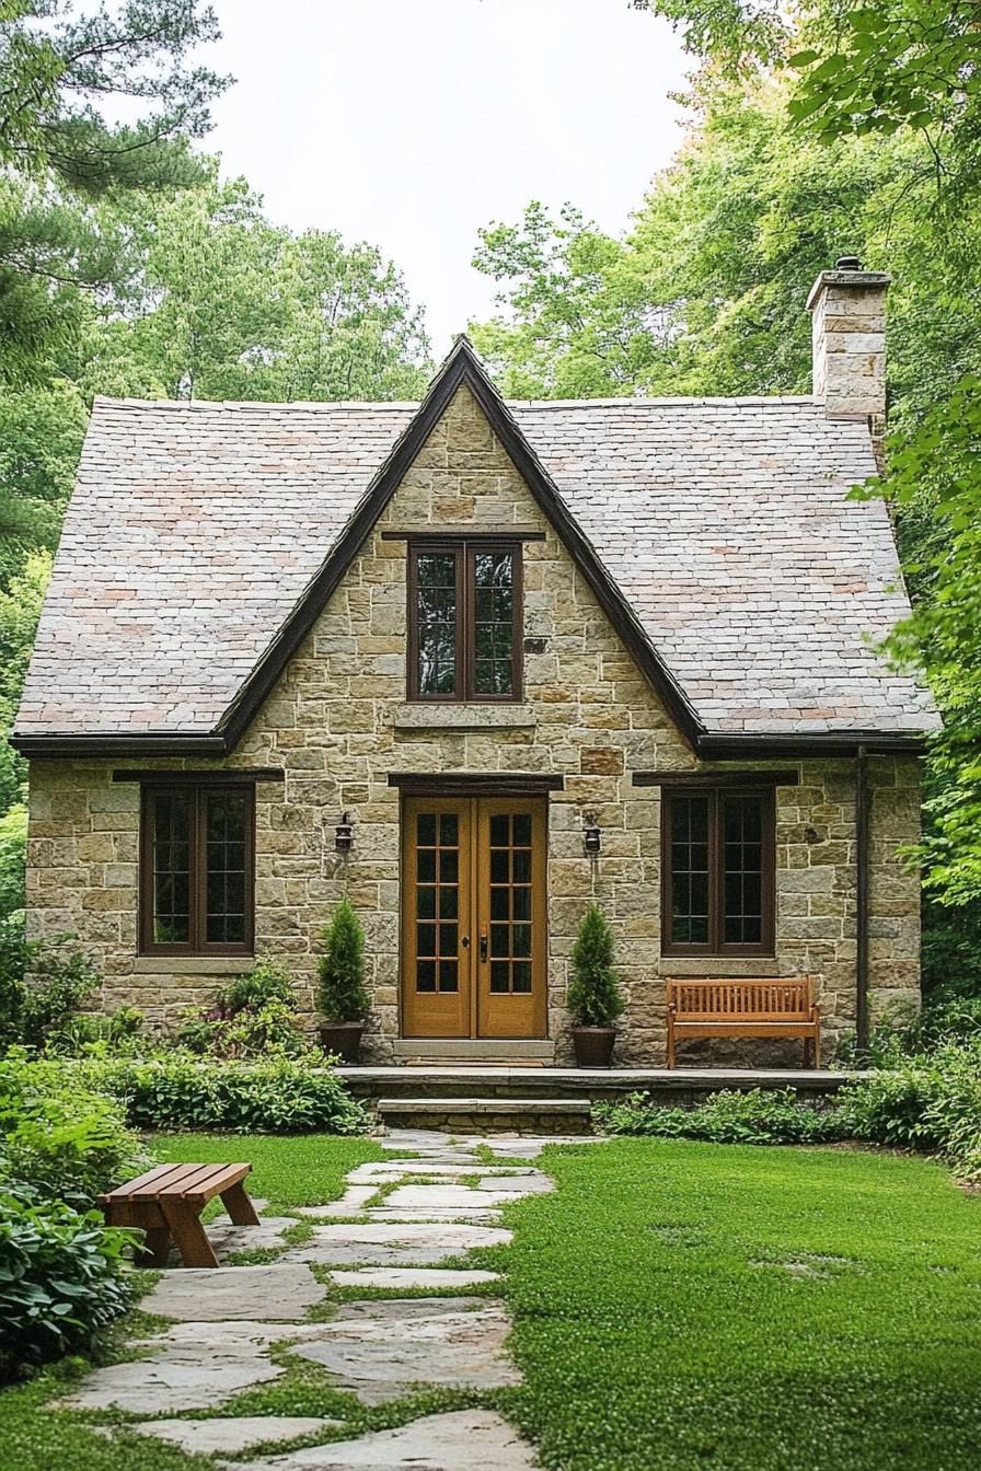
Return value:
<svg viewBox="0 0 981 1471">
<path fill-rule="evenodd" d="M 207 800 L 229 790 L 246 797 L 246 938 L 207 940 Z M 182 794 L 190 803 L 190 915 L 187 941 L 153 940 L 153 800 Z M 252 781 L 149 781 L 140 787 L 138 953 L 174 956 L 254 955 L 256 944 L 256 787 Z"/>
</svg>

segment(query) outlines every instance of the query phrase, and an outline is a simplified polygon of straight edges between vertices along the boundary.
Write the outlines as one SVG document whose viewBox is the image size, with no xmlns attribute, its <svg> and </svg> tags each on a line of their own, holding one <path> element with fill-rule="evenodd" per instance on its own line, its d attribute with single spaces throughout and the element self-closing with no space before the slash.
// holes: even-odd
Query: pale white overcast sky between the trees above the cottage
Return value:
<svg viewBox="0 0 981 1471">
<path fill-rule="evenodd" d="M 212 0 L 237 76 L 206 141 L 274 221 L 368 240 L 440 356 L 494 284 L 477 231 L 531 199 L 619 231 L 678 143 L 666 22 L 628 0 Z"/>
</svg>

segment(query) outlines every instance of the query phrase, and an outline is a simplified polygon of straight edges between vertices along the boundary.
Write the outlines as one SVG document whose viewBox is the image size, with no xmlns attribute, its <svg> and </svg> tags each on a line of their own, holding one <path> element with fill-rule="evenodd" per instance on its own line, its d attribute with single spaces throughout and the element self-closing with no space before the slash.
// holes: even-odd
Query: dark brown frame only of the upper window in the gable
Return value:
<svg viewBox="0 0 981 1471">
<path fill-rule="evenodd" d="M 524 537 L 412 535 L 407 538 L 409 647 L 406 697 L 419 705 L 519 705 L 524 699 Z M 477 581 L 479 555 L 506 552 L 512 559 L 510 691 L 484 694 L 474 687 L 477 666 Z M 452 553 L 456 558 L 456 643 L 453 694 L 425 694 L 419 688 L 419 556 Z"/>
</svg>

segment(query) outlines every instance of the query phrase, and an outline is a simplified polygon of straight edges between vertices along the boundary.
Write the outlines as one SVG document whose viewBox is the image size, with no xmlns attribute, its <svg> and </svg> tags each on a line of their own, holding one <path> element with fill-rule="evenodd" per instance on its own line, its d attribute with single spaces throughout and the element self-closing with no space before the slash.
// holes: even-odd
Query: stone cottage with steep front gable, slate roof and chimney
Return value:
<svg viewBox="0 0 981 1471">
<path fill-rule="evenodd" d="M 99 399 L 15 734 L 31 934 L 162 1027 L 263 953 L 312 1012 L 349 894 L 375 1061 L 566 1061 L 590 897 L 621 1062 L 663 1061 L 669 975 L 806 974 L 827 1049 L 915 999 L 937 716 L 875 649 L 856 265 L 813 396 L 504 403 L 460 338 L 421 405 Z"/>
</svg>

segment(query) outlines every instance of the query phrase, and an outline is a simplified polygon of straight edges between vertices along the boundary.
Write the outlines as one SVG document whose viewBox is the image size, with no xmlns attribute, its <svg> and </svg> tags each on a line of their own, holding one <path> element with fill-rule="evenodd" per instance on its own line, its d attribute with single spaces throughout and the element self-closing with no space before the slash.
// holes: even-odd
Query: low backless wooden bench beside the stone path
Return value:
<svg viewBox="0 0 981 1471">
<path fill-rule="evenodd" d="M 135 1225 L 147 1233 L 144 1258 L 166 1267 L 175 1242 L 185 1267 L 218 1267 L 201 1225 L 201 1211 L 222 1197 L 235 1225 L 259 1225 L 243 1180 L 252 1165 L 157 1165 L 100 1197 L 107 1225 Z"/>
</svg>

